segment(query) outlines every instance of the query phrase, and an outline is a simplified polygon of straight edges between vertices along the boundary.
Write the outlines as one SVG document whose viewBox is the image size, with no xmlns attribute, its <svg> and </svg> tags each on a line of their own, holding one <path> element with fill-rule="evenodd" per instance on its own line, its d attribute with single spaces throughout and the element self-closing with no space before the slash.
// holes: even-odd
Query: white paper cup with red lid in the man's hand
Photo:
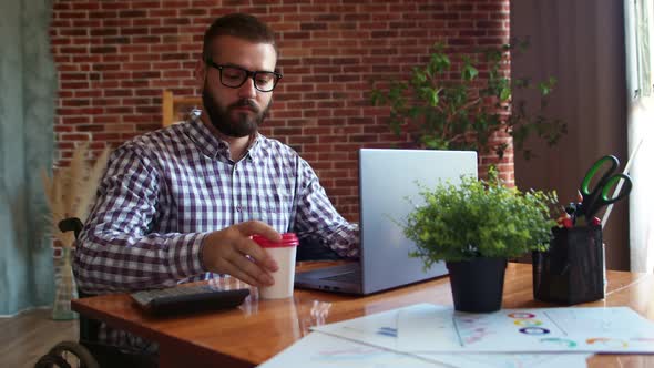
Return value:
<svg viewBox="0 0 654 368">
<path fill-rule="evenodd" d="M 293 296 L 293 284 L 295 283 L 295 254 L 297 253 L 298 239 L 293 233 L 282 234 L 282 242 L 275 243 L 267 238 L 254 235 L 255 241 L 264 248 L 279 266 L 274 272 L 272 286 L 259 287 L 259 298 L 262 299 L 284 299 Z"/>
</svg>

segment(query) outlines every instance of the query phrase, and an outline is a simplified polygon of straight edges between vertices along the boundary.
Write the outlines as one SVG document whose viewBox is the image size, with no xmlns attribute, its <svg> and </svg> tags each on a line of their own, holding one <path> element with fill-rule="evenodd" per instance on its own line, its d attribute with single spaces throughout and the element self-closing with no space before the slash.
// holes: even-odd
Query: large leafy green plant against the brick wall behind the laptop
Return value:
<svg viewBox="0 0 654 368">
<path fill-rule="evenodd" d="M 478 51 L 458 58 L 457 63 L 441 44 L 436 44 L 427 65 L 413 68 L 406 81 L 391 81 L 387 89 L 374 88 L 371 102 L 390 106 L 391 130 L 398 135 L 405 130 L 419 146 L 494 151 L 502 157 L 507 143 L 495 143 L 491 136 L 504 131 L 513 137 L 515 151 L 529 159 L 532 152 L 524 147 L 529 136 L 535 134 L 553 145 L 566 132 L 566 125 L 544 114 L 554 78 L 532 83 L 524 78 L 512 80 L 503 72 L 511 51 L 525 47 L 524 42 L 517 44 Z M 480 70 L 488 70 L 483 78 Z M 538 91 L 539 108 L 532 111 L 525 101 L 513 100 L 515 89 Z"/>
</svg>

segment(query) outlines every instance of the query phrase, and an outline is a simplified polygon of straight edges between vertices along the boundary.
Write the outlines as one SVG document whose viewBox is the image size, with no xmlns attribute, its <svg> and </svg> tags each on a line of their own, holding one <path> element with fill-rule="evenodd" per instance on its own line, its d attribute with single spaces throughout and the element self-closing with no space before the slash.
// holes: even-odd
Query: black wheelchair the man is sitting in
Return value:
<svg viewBox="0 0 654 368">
<path fill-rule="evenodd" d="M 76 217 L 64 218 L 58 224 L 62 232 L 74 232 L 75 238 L 82 231 Z M 89 297 L 78 292 L 80 298 Z M 98 339 L 100 321 L 80 315 L 80 340 L 60 341 L 39 358 L 34 368 L 110 368 L 110 367 L 156 367 L 152 357 L 121 351 L 114 346 L 101 344 Z"/>
</svg>

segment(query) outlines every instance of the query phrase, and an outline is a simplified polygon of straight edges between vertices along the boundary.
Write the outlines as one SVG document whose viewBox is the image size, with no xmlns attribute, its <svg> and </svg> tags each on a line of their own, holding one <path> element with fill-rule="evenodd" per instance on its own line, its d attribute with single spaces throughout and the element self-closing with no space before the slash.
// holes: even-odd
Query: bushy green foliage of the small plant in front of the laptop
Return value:
<svg viewBox="0 0 654 368">
<path fill-rule="evenodd" d="M 421 196 L 425 204 L 400 226 L 417 245 L 410 255 L 422 258 L 426 268 L 438 260 L 511 258 L 544 251 L 556 225 L 551 218 L 555 192 L 507 187 L 495 168 L 488 181 L 464 176 L 459 185 L 423 187 Z"/>
</svg>

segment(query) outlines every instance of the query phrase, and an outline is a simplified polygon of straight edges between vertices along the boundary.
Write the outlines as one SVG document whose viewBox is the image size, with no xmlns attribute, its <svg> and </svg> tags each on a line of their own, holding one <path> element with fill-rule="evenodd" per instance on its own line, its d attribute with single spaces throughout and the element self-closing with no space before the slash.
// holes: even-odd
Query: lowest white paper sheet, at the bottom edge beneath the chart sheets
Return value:
<svg viewBox="0 0 654 368">
<path fill-rule="evenodd" d="M 385 333 L 386 334 L 386 333 Z M 384 334 L 382 334 L 384 335 Z M 387 333 L 386 338 L 394 338 Z M 399 354 L 321 333 L 313 333 L 259 368 L 561 368 L 585 367 L 590 355 Z"/>
</svg>

